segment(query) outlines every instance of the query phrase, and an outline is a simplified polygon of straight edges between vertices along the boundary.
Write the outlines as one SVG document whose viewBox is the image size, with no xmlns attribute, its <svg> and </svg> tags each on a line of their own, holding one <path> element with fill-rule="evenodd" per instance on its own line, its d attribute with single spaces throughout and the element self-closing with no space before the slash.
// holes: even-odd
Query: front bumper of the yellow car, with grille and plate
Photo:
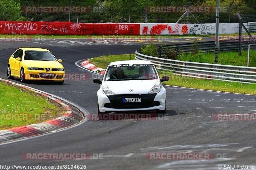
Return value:
<svg viewBox="0 0 256 170">
<path fill-rule="evenodd" d="M 46 74 L 46 75 L 45 75 Z M 26 80 L 64 81 L 65 71 L 26 70 Z"/>
</svg>

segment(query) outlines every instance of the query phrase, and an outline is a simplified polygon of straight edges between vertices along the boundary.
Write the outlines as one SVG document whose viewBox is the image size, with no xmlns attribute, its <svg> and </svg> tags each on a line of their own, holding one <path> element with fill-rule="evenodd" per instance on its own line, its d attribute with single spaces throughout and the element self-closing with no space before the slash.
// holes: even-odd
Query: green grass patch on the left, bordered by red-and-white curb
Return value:
<svg viewBox="0 0 256 170">
<path fill-rule="evenodd" d="M 38 93 L 0 81 L 0 130 L 63 116 L 66 109 Z"/>
</svg>

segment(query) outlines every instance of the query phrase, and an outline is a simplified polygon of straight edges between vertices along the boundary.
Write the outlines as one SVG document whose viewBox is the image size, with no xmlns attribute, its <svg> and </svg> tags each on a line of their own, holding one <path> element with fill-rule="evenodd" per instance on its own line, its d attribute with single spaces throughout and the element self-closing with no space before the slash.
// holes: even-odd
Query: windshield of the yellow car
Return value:
<svg viewBox="0 0 256 170">
<path fill-rule="evenodd" d="M 57 61 L 49 51 L 25 51 L 25 60 Z"/>
</svg>

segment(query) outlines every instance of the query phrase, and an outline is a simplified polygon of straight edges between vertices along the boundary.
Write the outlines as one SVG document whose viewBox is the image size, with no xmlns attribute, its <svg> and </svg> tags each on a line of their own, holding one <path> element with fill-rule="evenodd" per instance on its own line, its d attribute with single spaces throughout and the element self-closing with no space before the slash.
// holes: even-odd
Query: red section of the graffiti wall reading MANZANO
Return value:
<svg viewBox="0 0 256 170">
<path fill-rule="evenodd" d="M 140 35 L 139 24 L 0 21 L 0 34 Z"/>
</svg>

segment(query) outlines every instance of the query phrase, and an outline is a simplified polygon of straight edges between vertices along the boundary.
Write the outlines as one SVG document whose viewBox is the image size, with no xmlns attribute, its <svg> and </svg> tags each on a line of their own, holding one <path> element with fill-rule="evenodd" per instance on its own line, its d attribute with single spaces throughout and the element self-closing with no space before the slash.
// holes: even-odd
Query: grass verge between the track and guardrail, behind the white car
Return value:
<svg viewBox="0 0 256 170">
<path fill-rule="evenodd" d="M 132 60 L 134 60 L 135 54 L 131 54 L 131 56 L 132 56 Z M 106 55 L 102 57 L 96 57 L 91 59 L 90 63 L 94 64 L 97 67 L 101 67 L 105 69 L 108 66 L 109 62 L 120 61 L 120 60 L 130 60 L 130 54 Z M 255 91 L 256 84 L 245 84 L 245 83 L 238 83 L 238 82 L 192 78 L 192 77 L 175 75 L 171 72 L 166 72 L 161 70 L 158 70 L 158 72 L 160 76 L 162 75 L 170 76 L 170 81 L 163 82 L 165 85 L 256 95 L 256 91 Z"/>
</svg>

